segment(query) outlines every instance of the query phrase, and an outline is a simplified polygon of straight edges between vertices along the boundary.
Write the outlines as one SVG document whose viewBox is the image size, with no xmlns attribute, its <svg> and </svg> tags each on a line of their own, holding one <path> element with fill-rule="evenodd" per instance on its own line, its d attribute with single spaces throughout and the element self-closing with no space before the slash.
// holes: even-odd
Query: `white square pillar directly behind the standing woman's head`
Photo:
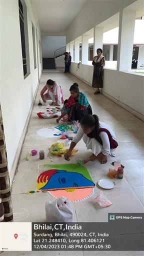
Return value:
<svg viewBox="0 0 144 256">
<path fill-rule="evenodd" d="M 93 35 L 93 56 L 97 55 L 96 49 L 103 45 L 103 27 L 95 26 Z"/>
</svg>

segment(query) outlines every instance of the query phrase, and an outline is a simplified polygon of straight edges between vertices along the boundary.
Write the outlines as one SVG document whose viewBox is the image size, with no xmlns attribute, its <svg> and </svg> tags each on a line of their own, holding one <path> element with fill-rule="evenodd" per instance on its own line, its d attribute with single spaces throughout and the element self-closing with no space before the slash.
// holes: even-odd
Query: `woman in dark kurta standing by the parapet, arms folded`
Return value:
<svg viewBox="0 0 144 256">
<path fill-rule="evenodd" d="M 100 93 L 99 88 L 103 85 L 103 67 L 105 65 L 105 57 L 102 55 L 102 49 L 98 48 L 97 55 L 93 57 L 93 78 L 92 87 L 96 88 L 94 94 Z"/>
</svg>

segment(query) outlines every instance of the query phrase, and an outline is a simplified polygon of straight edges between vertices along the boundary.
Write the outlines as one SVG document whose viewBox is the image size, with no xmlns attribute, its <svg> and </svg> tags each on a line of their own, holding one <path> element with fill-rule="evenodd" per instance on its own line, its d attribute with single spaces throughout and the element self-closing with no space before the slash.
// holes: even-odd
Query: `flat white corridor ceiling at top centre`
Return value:
<svg viewBox="0 0 144 256">
<path fill-rule="evenodd" d="M 42 35 L 65 35 L 86 0 L 31 0 Z"/>
</svg>

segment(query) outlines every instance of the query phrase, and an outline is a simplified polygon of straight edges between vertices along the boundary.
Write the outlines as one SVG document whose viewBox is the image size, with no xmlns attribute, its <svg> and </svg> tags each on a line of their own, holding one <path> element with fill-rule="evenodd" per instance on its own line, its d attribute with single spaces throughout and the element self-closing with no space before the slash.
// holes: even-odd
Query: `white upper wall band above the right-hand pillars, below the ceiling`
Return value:
<svg viewBox="0 0 144 256">
<path fill-rule="evenodd" d="M 66 43 L 87 32 L 95 25 L 119 12 L 121 7 L 135 0 L 95 0 L 87 1 L 66 30 Z"/>
</svg>

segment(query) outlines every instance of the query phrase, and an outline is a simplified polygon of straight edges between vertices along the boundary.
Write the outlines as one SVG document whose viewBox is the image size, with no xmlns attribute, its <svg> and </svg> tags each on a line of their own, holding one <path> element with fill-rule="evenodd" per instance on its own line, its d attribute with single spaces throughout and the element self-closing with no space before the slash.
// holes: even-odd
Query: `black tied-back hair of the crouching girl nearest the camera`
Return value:
<svg viewBox="0 0 144 256">
<path fill-rule="evenodd" d="M 96 114 L 86 114 L 80 120 L 80 124 L 85 128 L 92 128 L 92 136 L 102 145 L 102 140 L 99 136 L 99 118 Z"/>
</svg>

